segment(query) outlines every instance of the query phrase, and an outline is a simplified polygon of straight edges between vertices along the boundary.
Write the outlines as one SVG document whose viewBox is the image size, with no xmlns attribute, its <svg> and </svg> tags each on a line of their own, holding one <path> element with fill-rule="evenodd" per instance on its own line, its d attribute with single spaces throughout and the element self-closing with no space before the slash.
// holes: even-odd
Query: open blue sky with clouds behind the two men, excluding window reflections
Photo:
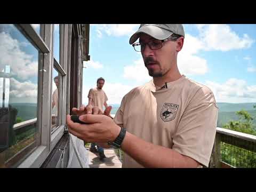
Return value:
<svg viewBox="0 0 256 192">
<path fill-rule="evenodd" d="M 185 43 L 178 54 L 181 74 L 213 91 L 217 102 L 256 102 L 256 25 L 183 25 Z M 139 25 L 90 25 L 91 60 L 84 62 L 83 103 L 106 79 L 111 104 L 133 87 L 150 81 L 141 54 L 129 44 Z"/>
</svg>

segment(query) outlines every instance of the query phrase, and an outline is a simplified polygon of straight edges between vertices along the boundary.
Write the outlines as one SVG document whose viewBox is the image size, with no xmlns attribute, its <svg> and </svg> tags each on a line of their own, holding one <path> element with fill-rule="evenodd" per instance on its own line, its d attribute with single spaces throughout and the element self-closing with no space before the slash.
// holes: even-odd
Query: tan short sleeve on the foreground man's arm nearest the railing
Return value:
<svg viewBox="0 0 256 192">
<path fill-rule="evenodd" d="M 189 101 L 177 132 L 173 149 L 208 166 L 216 134 L 218 107 L 207 87 L 199 89 Z"/>
</svg>

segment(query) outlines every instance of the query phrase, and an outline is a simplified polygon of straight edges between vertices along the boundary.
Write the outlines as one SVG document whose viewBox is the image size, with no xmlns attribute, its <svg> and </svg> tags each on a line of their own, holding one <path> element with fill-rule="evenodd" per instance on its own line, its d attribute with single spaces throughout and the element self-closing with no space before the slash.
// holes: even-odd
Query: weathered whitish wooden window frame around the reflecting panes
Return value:
<svg viewBox="0 0 256 192">
<path fill-rule="evenodd" d="M 62 137 L 65 130 L 67 103 L 69 98 L 66 93 L 67 81 L 69 81 L 69 68 L 70 64 L 70 41 L 71 39 L 71 25 L 60 25 L 60 63 L 58 72 L 62 75 L 62 85 L 60 92 L 63 97 L 60 97 L 60 125 L 51 133 L 51 93 L 52 93 L 52 76 L 54 66 L 53 56 L 53 24 L 41 24 L 40 36 L 36 33 L 31 25 L 21 24 L 17 25 L 18 28 L 23 30 L 23 34 L 30 40 L 33 45 L 37 47 L 42 54 L 39 54 L 38 62 L 38 104 L 37 104 L 37 126 L 39 134 L 41 135 L 40 145 L 28 155 L 18 167 L 40 167 L 47 156 L 51 153 L 57 142 Z M 42 37 L 42 38 L 41 38 Z M 61 67 L 61 68 L 60 68 Z M 68 84 L 69 85 L 69 84 Z"/>
</svg>

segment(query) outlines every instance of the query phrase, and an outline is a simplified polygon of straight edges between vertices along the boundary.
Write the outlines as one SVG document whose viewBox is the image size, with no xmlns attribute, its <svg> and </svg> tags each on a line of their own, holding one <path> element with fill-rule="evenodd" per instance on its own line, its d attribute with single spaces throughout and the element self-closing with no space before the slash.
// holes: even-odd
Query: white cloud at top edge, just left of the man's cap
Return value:
<svg viewBox="0 0 256 192">
<path fill-rule="evenodd" d="M 93 25 L 98 31 L 105 32 L 108 36 L 131 36 L 139 28 L 139 24 L 100 24 Z"/>
</svg>

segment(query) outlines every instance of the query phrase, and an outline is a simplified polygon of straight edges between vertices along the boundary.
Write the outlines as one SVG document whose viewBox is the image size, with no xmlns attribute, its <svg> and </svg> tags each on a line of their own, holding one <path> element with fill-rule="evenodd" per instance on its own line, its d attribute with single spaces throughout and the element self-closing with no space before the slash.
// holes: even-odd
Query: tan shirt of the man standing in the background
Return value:
<svg viewBox="0 0 256 192">
<path fill-rule="evenodd" d="M 102 89 L 90 89 L 88 98 L 92 99 L 92 105 L 103 110 L 104 103 L 108 100 L 106 93 Z"/>
</svg>

